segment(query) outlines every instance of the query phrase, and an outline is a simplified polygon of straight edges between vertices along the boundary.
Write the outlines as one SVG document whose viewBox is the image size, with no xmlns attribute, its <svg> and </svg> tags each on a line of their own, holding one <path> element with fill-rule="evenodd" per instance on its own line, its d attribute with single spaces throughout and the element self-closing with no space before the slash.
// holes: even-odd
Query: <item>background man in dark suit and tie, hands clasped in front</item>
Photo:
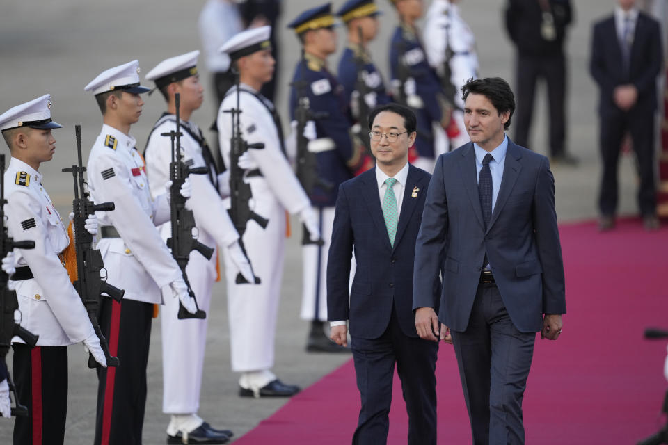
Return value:
<svg viewBox="0 0 668 445">
<path fill-rule="evenodd" d="M 600 138 L 603 178 L 598 209 L 599 229 L 614 227 L 617 211 L 617 163 L 626 131 L 638 160 L 638 203 L 646 229 L 659 227 L 654 183 L 654 118 L 656 77 L 662 65 L 659 24 L 634 6 L 619 0 L 614 15 L 594 25 L 591 65 L 601 96 Z"/>
</svg>

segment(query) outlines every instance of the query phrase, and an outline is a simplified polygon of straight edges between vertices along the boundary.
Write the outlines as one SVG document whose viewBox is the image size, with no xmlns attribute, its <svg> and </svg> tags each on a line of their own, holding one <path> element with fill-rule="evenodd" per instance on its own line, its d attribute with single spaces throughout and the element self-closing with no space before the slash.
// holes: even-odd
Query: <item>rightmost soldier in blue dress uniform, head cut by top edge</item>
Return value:
<svg viewBox="0 0 668 445">
<path fill-rule="evenodd" d="M 399 26 L 390 43 L 390 72 L 393 95 L 396 102 L 409 106 L 417 117 L 417 156 L 413 165 L 434 171 L 438 156 L 435 149 L 435 134 L 450 124 L 452 107 L 438 81 L 436 72 L 429 66 L 415 21 L 422 17 L 422 2 L 414 0 L 391 0 L 399 14 Z M 432 127 L 436 122 L 437 125 Z M 440 126 L 438 125 L 440 124 Z"/>
</svg>

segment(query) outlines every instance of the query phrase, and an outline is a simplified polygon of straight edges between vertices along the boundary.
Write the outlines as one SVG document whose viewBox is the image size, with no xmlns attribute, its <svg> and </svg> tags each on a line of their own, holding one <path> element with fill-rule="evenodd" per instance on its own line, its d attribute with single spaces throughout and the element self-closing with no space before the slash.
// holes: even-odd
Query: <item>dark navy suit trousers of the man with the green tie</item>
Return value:
<svg viewBox="0 0 668 445">
<path fill-rule="evenodd" d="M 404 334 L 393 307 L 381 337 L 362 339 L 351 332 L 351 350 L 362 401 L 353 445 L 387 442 L 395 363 L 408 411 L 408 444 L 436 444 L 438 343 Z"/>
</svg>

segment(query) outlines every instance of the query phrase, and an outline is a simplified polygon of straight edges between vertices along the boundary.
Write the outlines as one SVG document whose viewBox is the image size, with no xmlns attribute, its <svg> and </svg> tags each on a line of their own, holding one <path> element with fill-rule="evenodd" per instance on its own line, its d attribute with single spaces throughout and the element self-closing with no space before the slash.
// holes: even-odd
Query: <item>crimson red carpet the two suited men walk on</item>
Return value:
<svg viewBox="0 0 668 445">
<path fill-rule="evenodd" d="M 660 407 L 667 341 L 642 338 L 668 328 L 668 228 L 646 233 L 621 220 L 562 225 L 566 267 L 564 333 L 536 340 L 524 400 L 527 444 L 635 444 L 665 420 Z M 314 359 L 317 357 L 314 355 Z M 452 347 L 438 363 L 438 443 L 470 444 L 468 414 Z M 406 444 L 408 418 L 395 375 L 389 444 Z M 292 398 L 236 444 L 347 444 L 359 395 L 352 362 Z"/>
</svg>

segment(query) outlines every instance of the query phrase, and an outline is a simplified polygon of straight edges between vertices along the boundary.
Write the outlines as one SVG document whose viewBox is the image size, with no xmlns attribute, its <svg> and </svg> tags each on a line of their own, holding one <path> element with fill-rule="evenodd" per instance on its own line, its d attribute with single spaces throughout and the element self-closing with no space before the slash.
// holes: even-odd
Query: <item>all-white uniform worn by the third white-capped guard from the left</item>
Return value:
<svg viewBox="0 0 668 445">
<path fill-rule="evenodd" d="M 160 136 L 176 130 L 175 115 L 164 114 L 154 125 L 145 150 L 145 161 L 150 178 L 152 195 L 166 193 L 171 162 L 171 140 Z M 191 167 L 205 166 L 202 147 L 193 135 L 203 139 L 200 129 L 192 123 L 181 121 L 181 147 L 183 161 Z M 216 172 L 212 168 L 211 175 Z M 198 241 L 211 248 L 216 243 L 227 246 L 239 239 L 223 199 L 209 179 L 209 175 L 189 175 L 192 197 L 188 208 L 196 220 Z M 164 241 L 171 236 L 171 224 L 160 226 Z M 191 252 L 186 274 L 195 293 L 200 309 L 209 312 L 211 291 L 216 280 L 216 256 L 207 260 L 199 252 Z M 236 269 L 235 272 L 236 274 Z M 169 291 L 168 291 L 169 292 Z M 202 369 L 209 317 L 205 319 L 177 319 L 179 302 L 170 295 L 164 298 L 162 326 L 162 364 L 164 391 L 162 410 L 167 414 L 196 413 L 200 405 Z"/>
</svg>

